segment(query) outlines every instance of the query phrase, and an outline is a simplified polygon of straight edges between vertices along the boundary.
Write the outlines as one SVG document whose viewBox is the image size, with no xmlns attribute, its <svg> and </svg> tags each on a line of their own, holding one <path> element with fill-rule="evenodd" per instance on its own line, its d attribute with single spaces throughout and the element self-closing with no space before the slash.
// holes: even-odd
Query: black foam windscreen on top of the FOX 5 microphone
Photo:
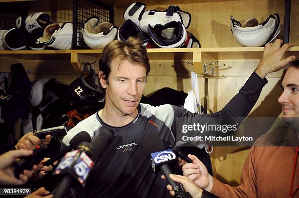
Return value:
<svg viewBox="0 0 299 198">
<path fill-rule="evenodd" d="M 91 141 L 90 144 L 93 147 L 92 160 L 94 162 L 97 159 L 99 159 L 100 156 L 104 153 L 108 145 L 111 143 L 113 137 L 114 137 L 114 132 L 112 130 L 105 129 L 99 136 L 95 137 Z"/>
</svg>

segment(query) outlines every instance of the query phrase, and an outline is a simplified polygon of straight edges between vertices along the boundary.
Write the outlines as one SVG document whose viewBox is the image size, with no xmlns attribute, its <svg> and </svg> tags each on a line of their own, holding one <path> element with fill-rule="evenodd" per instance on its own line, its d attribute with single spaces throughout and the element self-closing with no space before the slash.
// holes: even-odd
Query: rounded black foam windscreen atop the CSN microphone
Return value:
<svg viewBox="0 0 299 198">
<path fill-rule="evenodd" d="M 167 147 L 161 140 L 161 138 L 154 132 L 149 132 L 145 134 L 140 142 L 139 146 L 145 156 L 149 156 L 151 153 L 155 153 L 166 149 Z"/>
</svg>

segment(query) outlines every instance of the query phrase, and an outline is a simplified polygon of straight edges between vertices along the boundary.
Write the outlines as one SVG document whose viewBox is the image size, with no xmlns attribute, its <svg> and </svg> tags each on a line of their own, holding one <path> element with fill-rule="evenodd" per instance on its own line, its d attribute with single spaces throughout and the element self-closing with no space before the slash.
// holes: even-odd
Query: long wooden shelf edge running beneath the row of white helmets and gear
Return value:
<svg viewBox="0 0 299 198">
<path fill-rule="evenodd" d="M 162 56 L 163 59 L 167 59 L 167 54 L 173 56 L 174 59 L 178 54 L 182 56 L 192 57 L 192 53 L 206 53 L 213 56 L 216 59 L 259 59 L 263 54 L 263 47 L 232 47 L 232 48 L 153 48 L 148 49 L 149 56 Z M 0 56 L 12 57 L 19 59 L 31 59 L 33 55 L 34 59 L 46 58 L 47 56 L 55 55 L 67 59 L 69 54 L 85 54 L 90 56 L 99 56 L 103 50 L 2 50 Z M 299 54 L 299 46 L 291 47 L 287 54 Z M 191 56 L 190 56 L 191 55 Z M 38 58 L 37 58 L 38 57 Z M 173 58 L 172 57 L 172 58 Z M 186 58 L 187 59 L 187 58 Z M 192 59 L 192 58 L 189 58 Z"/>
</svg>

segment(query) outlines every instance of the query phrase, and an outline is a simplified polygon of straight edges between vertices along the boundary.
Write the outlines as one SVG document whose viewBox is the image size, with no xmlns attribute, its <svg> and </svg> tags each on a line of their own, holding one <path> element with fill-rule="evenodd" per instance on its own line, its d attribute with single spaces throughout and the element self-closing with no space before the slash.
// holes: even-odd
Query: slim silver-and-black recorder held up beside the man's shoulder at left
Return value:
<svg viewBox="0 0 299 198">
<path fill-rule="evenodd" d="M 57 126 L 52 128 L 45 128 L 42 130 L 34 130 L 33 134 L 43 142 L 47 135 L 51 135 L 53 140 L 57 140 L 60 137 L 65 136 L 66 132 L 67 131 L 65 126 Z"/>
</svg>

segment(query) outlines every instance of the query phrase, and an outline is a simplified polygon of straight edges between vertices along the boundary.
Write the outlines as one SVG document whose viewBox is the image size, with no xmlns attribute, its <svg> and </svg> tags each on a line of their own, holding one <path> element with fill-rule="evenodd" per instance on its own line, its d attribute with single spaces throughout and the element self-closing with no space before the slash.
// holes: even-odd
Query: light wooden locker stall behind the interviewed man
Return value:
<svg viewBox="0 0 299 198">
<path fill-rule="evenodd" d="M 4 0 L 8 1 L 8 0 Z M 0 2 L 4 2 L 1 0 Z M 46 12 L 53 22 L 72 20 L 71 0 L 30 1 L 29 12 Z M 45 3 L 46 2 L 46 3 Z M 114 24 L 124 22 L 123 13 L 133 0 L 104 0 L 114 7 Z M 244 85 L 255 70 L 262 56 L 263 48 L 240 46 L 231 33 L 230 16 L 240 22 L 255 17 L 263 22 L 270 14 L 280 16 L 283 38 L 285 0 L 144 0 L 146 9 L 165 10 L 170 4 L 192 15 L 188 28 L 201 43 L 202 48 L 192 49 L 148 49 L 151 70 L 145 95 L 163 87 L 188 92 L 191 89 L 191 73 L 203 73 L 204 63 L 219 61 L 218 76 L 199 75 L 200 100 L 208 112 L 215 112 Z M 45 3 L 45 4 L 44 4 Z M 287 55 L 299 58 L 299 1 L 291 4 L 290 42 L 295 44 Z M 52 50 L 52 51 L 0 51 L 0 72 L 9 72 L 13 63 L 22 62 L 31 80 L 44 76 L 54 77 L 69 84 L 80 75 L 86 61 L 98 62 L 102 50 Z M 193 65 L 186 63 L 193 63 Z M 97 63 L 93 69 L 98 71 Z M 281 93 L 282 72 L 267 76 L 269 83 L 261 92 L 260 98 L 251 111 L 251 117 L 277 117 L 281 107 L 277 102 Z M 214 176 L 225 183 L 238 185 L 248 147 L 217 147 L 211 155 Z"/>
</svg>

